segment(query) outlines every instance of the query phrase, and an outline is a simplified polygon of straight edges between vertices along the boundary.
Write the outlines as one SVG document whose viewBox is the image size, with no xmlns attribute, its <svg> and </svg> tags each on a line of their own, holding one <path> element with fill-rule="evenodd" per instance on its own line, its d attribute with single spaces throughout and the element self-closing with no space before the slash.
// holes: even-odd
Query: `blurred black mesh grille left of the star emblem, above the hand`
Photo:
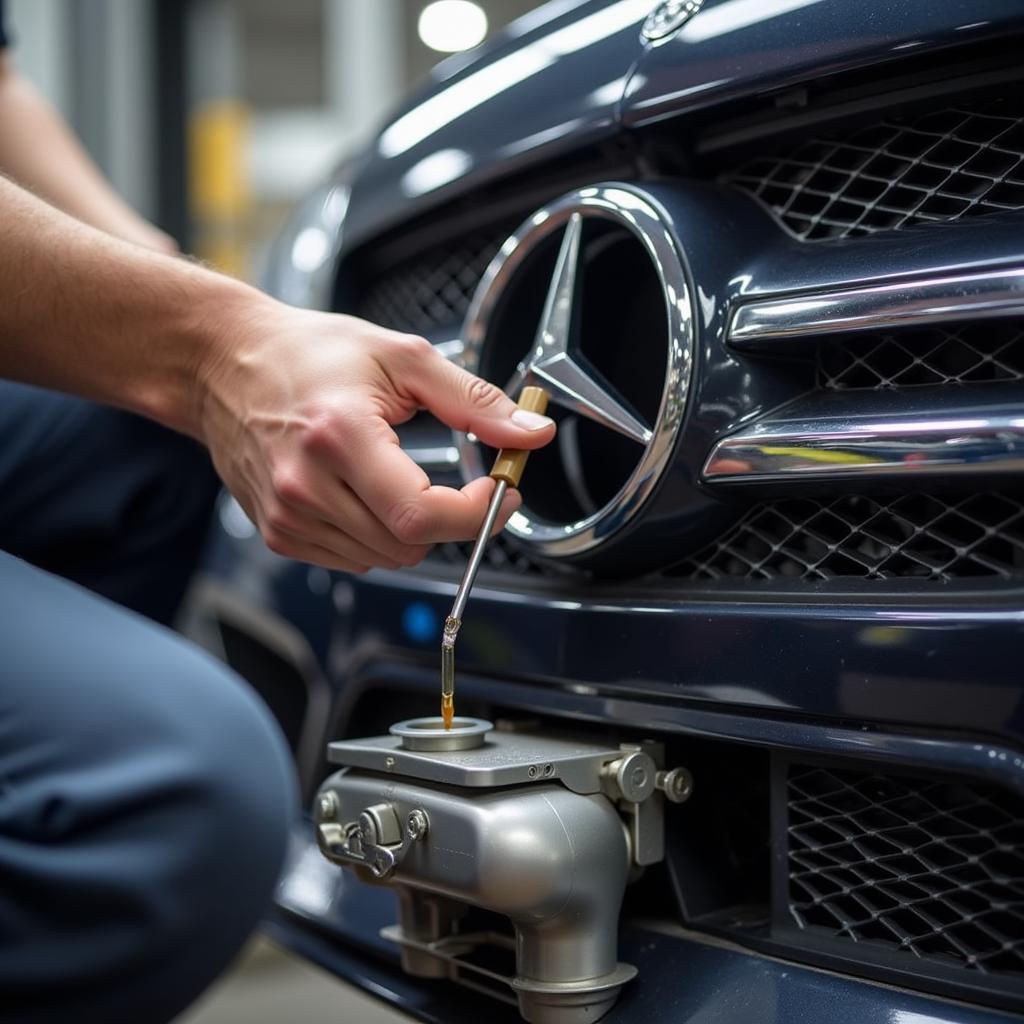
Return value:
<svg viewBox="0 0 1024 1024">
<path fill-rule="evenodd" d="M 467 232 L 389 267 L 367 284 L 356 312 L 394 331 L 415 334 L 458 326 L 508 234 L 505 227 Z"/>
</svg>

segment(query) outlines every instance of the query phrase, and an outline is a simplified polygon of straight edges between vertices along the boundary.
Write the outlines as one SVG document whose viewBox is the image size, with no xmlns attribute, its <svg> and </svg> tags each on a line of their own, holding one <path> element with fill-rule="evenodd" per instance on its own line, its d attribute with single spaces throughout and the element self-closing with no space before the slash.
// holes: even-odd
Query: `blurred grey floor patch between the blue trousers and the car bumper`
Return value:
<svg viewBox="0 0 1024 1024">
<path fill-rule="evenodd" d="M 265 939 L 175 1024 L 399 1024 L 409 1018 Z"/>
</svg>

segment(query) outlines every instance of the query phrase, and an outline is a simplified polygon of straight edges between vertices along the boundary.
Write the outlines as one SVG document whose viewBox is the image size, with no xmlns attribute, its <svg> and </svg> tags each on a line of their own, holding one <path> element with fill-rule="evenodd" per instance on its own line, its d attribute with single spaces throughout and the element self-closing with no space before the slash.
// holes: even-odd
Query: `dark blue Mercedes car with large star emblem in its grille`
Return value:
<svg viewBox="0 0 1024 1024">
<path fill-rule="evenodd" d="M 692 775 L 606 1020 L 1024 1011 L 1022 45 L 1013 0 L 555 0 L 441 66 L 275 245 L 281 298 L 549 389 L 459 709 Z M 486 471 L 426 415 L 400 436 L 437 482 Z M 436 713 L 466 556 L 332 574 L 222 505 L 196 626 L 307 805 L 329 741 Z M 395 920 L 296 831 L 279 939 L 418 1020 L 519 1019 L 403 973 Z"/>
</svg>

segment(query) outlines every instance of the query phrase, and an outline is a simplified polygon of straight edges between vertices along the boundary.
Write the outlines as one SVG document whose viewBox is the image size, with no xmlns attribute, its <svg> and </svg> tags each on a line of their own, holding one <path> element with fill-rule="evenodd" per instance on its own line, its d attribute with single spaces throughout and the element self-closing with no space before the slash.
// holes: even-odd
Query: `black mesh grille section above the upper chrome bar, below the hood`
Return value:
<svg viewBox="0 0 1024 1024">
<path fill-rule="evenodd" d="M 804 240 L 841 239 L 1024 209 L 1024 118 L 1017 101 L 886 118 L 724 175 Z"/>
</svg>

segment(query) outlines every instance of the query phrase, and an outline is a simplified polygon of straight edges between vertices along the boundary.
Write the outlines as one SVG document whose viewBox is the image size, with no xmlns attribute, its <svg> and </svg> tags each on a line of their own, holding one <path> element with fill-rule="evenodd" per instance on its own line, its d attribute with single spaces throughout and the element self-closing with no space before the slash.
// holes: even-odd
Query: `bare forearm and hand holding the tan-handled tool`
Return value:
<svg viewBox="0 0 1024 1024">
<path fill-rule="evenodd" d="M 0 376 L 197 437 L 281 554 L 360 571 L 476 532 L 493 483 L 430 484 L 391 429 L 418 408 L 495 447 L 554 435 L 422 338 L 283 305 L 2 179 L 0 224 Z M 518 501 L 506 499 L 500 524 Z"/>
</svg>

